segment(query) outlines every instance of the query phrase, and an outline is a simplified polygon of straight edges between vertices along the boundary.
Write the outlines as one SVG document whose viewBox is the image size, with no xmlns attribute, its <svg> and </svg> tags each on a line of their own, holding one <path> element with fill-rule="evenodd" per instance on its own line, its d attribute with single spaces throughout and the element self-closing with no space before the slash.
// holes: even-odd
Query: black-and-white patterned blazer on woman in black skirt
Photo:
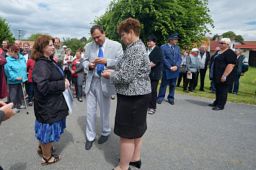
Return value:
<svg viewBox="0 0 256 170">
<path fill-rule="evenodd" d="M 117 62 L 110 83 L 121 95 L 146 95 L 151 93 L 149 56 L 141 39 L 130 44 Z"/>
</svg>

